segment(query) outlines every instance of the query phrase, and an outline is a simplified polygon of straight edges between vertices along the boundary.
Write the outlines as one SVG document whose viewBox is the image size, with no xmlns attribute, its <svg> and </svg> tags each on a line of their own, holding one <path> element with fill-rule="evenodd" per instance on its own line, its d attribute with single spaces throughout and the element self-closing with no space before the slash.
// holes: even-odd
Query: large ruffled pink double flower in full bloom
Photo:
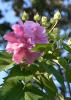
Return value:
<svg viewBox="0 0 71 100">
<path fill-rule="evenodd" d="M 42 54 L 32 51 L 33 46 L 48 43 L 45 29 L 33 21 L 26 21 L 24 24 L 20 21 L 12 29 L 13 32 L 4 35 L 4 39 L 8 41 L 7 52 L 13 54 L 13 61 L 17 64 L 23 60 L 28 64 L 33 63 Z"/>
</svg>

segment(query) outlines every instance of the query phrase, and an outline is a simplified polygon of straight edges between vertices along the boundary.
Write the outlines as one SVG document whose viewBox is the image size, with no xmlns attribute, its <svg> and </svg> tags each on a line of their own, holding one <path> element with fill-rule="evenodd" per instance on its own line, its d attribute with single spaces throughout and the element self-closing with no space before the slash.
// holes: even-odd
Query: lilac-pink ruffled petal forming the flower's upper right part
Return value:
<svg viewBox="0 0 71 100">
<path fill-rule="evenodd" d="M 26 21 L 24 23 L 24 36 L 25 37 L 31 37 L 32 42 L 39 43 L 39 44 L 45 44 L 48 43 L 48 38 L 45 34 L 44 27 L 40 26 L 39 23 L 35 23 L 32 21 Z"/>
</svg>

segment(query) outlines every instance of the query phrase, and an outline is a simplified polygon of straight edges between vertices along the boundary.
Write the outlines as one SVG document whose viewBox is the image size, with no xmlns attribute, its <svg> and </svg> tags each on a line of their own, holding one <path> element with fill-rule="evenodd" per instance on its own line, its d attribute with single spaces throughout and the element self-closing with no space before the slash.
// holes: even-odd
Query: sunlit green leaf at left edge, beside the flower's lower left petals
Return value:
<svg viewBox="0 0 71 100">
<path fill-rule="evenodd" d="M 13 67 L 15 63 L 11 59 L 11 55 L 7 52 L 0 52 L 0 71 Z"/>
</svg>

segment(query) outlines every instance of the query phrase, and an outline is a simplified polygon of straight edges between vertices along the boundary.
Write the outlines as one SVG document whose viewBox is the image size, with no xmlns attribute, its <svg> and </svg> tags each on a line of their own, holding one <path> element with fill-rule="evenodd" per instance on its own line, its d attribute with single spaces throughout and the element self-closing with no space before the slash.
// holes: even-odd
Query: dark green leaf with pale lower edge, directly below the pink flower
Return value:
<svg viewBox="0 0 71 100">
<path fill-rule="evenodd" d="M 27 67 L 23 64 L 23 67 Z M 7 80 L 25 80 L 25 81 L 31 81 L 33 75 L 30 73 L 29 68 L 24 68 L 21 70 L 20 65 L 15 65 L 11 71 L 9 72 L 9 75 L 4 78 L 5 81 Z"/>
</svg>

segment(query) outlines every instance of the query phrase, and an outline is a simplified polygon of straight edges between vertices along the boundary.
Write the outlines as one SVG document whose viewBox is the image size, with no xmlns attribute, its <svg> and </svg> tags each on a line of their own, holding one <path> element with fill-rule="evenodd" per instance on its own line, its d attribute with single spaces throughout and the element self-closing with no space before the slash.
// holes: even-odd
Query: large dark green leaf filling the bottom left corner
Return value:
<svg viewBox="0 0 71 100">
<path fill-rule="evenodd" d="M 17 80 L 6 82 L 0 88 L 0 100 L 24 100 L 23 85 Z"/>
</svg>

